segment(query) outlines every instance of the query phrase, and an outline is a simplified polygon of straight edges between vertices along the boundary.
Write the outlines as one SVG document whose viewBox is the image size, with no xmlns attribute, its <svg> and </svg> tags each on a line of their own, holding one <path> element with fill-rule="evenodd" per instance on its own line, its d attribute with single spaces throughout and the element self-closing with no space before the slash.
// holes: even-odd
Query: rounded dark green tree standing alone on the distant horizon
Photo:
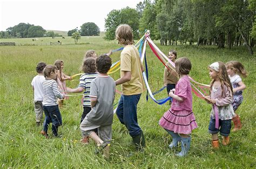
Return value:
<svg viewBox="0 0 256 169">
<path fill-rule="evenodd" d="M 81 36 L 99 36 L 99 27 L 93 22 L 84 23 L 80 29 Z"/>
</svg>

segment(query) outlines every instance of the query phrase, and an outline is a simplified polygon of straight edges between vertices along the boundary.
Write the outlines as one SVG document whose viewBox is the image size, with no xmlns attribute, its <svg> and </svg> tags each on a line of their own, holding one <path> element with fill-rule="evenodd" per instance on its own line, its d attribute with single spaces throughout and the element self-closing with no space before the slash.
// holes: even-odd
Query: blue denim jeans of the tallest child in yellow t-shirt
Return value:
<svg viewBox="0 0 256 169">
<path fill-rule="evenodd" d="M 130 96 L 121 95 L 117 106 L 117 117 L 119 121 L 129 130 L 131 137 L 138 136 L 140 129 L 137 120 L 137 104 L 142 94 L 134 94 Z"/>
</svg>

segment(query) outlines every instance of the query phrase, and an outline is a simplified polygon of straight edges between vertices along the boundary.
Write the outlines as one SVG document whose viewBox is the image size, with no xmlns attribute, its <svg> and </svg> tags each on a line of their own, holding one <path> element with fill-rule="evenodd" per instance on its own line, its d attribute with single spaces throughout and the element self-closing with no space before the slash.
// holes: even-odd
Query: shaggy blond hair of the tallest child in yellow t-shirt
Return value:
<svg viewBox="0 0 256 169">
<path fill-rule="evenodd" d="M 134 41 L 131 26 L 127 24 L 119 25 L 116 29 L 116 39 L 120 44 L 132 45 Z"/>
</svg>

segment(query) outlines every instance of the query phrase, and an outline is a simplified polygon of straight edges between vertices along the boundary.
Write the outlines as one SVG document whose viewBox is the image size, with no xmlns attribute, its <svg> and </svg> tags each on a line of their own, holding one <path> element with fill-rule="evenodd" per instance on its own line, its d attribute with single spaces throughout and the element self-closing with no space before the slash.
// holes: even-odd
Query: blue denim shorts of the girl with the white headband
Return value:
<svg viewBox="0 0 256 169">
<path fill-rule="evenodd" d="M 221 136 L 229 136 L 231 130 L 231 120 L 220 120 L 219 119 L 219 129 L 215 128 L 215 119 L 211 118 L 208 126 L 208 132 L 210 134 L 217 134 L 220 132 Z"/>
</svg>

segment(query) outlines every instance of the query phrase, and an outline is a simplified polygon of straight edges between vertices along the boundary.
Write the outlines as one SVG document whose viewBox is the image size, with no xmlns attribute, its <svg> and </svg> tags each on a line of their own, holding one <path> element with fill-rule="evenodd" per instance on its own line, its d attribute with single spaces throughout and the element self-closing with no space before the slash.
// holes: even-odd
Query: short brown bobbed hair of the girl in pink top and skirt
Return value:
<svg viewBox="0 0 256 169">
<path fill-rule="evenodd" d="M 192 64 L 190 59 L 186 57 L 178 58 L 175 62 L 175 69 L 179 75 L 188 75 L 190 73 Z"/>
</svg>

